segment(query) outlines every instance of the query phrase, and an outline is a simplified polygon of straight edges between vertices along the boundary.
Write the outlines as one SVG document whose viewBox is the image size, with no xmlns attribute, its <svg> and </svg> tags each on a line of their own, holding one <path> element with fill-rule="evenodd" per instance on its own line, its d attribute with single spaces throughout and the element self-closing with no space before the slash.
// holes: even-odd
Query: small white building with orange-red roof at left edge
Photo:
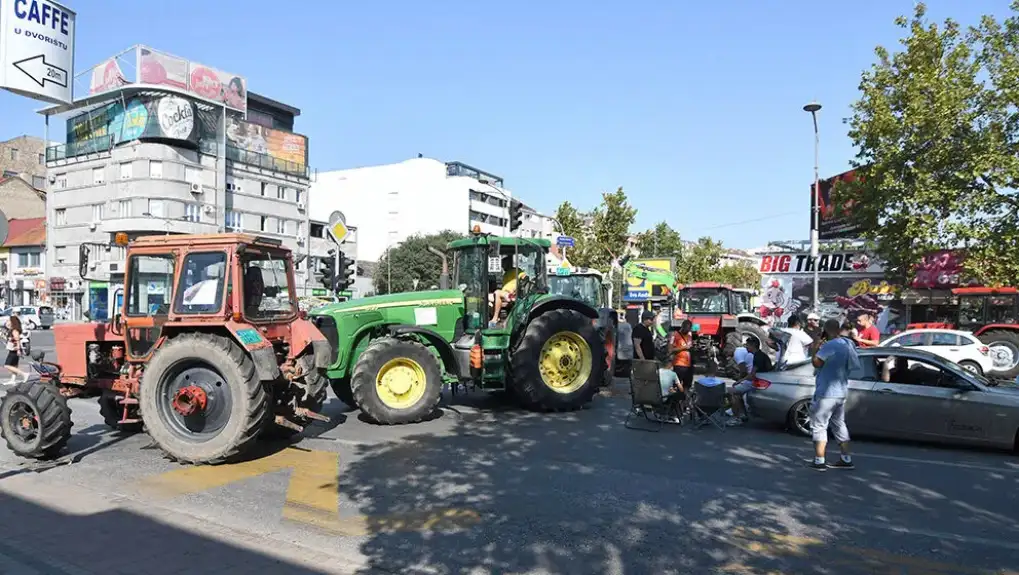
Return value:
<svg viewBox="0 0 1019 575">
<path fill-rule="evenodd" d="M 47 303 L 46 219 L 11 219 L 0 253 L 3 307 Z"/>
</svg>

